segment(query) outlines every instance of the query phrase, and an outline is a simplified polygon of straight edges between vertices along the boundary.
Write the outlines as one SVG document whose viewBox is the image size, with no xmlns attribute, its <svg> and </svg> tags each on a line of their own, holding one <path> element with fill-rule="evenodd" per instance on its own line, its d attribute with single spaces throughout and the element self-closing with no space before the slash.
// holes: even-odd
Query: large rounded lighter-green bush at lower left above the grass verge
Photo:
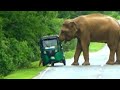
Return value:
<svg viewBox="0 0 120 90">
<path fill-rule="evenodd" d="M 33 49 L 27 41 L 4 39 L 0 45 L 0 74 L 7 75 L 18 68 L 28 68 L 34 58 Z"/>
</svg>

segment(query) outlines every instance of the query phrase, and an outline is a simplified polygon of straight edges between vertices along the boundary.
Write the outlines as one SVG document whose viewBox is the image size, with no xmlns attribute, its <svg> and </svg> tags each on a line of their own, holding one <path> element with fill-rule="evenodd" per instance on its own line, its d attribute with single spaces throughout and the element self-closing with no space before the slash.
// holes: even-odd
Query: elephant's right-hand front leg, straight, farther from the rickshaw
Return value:
<svg viewBox="0 0 120 90">
<path fill-rule="evenodd" d="M 89 42 L 82 41 L 82 50 L 83 50 L 83 56 L 84 56 L 84 63 L 82 65 L 90 65 L 89 63 Z"/>
</svg>

